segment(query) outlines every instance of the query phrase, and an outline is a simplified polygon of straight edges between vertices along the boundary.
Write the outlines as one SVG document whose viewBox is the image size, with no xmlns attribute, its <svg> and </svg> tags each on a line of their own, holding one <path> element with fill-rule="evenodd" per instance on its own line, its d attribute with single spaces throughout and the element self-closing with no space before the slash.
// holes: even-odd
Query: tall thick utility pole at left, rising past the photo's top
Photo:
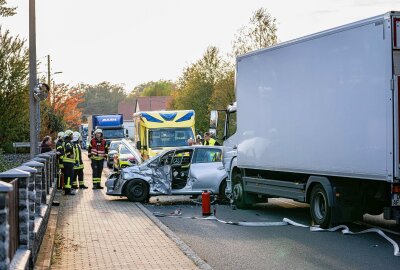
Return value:
<svg viewBox="0 0 400 270">
<path fill-rule="evenodd" d="M 35 99 L 36 81 L 36 15 L 35 0 L 29 0 L 29 127 L 31 158 L 38 154 L 38 134 L 36 130 L 37 107 L 40 101 Z"/>
</svg>

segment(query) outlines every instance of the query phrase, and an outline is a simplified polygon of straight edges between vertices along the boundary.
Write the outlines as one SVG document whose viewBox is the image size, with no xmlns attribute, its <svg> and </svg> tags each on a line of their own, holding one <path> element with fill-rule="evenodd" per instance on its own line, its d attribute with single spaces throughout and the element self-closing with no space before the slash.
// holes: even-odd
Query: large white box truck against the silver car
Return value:
<svg viewBox="0 0 400 270">
<path fill-rule="evenodd" d="M 322 227 L 399 223 L 399 78 L 400 12 L 237 57 L 223 137 L 234 203 L 307 202 Z"/>
</svg>

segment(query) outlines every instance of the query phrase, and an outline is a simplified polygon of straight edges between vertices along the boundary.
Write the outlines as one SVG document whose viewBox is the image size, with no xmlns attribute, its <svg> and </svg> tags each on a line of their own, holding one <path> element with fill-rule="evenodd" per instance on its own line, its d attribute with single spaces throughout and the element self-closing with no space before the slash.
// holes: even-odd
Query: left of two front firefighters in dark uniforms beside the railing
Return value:
<svg viewBox="0 0 400 270">
<path fill-rule="evenodd" d="M 72 130 L 64 132 L 64 195 L 75 195 L 75 192 L 71 191 L 71 182 L 74 177 L 74 164 L 75 164 L 75 152 L 72 145 Z"/>
</svg>

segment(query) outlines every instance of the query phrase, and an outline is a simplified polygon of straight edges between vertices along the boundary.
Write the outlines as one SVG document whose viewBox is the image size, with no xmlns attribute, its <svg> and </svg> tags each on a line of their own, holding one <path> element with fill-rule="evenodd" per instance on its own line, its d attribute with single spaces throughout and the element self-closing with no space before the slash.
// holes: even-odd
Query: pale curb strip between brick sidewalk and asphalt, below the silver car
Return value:
<svg viewBox="0 0 400 270">
<path fill-rule="evenodd" d="M 150 218 L 174 243 L 178 248 L 193 261 L 193 263 L 202 270 L 212 270 L 212 267 L 203 261 L 197 254 L 183 242 L 173 231 L 165 226 L 158 218 L 156 218 L 149 210 L 146 209 L 141 203 L 135 203 L 135 205 L 142 210 L 142 212 Z"/>
</svg>

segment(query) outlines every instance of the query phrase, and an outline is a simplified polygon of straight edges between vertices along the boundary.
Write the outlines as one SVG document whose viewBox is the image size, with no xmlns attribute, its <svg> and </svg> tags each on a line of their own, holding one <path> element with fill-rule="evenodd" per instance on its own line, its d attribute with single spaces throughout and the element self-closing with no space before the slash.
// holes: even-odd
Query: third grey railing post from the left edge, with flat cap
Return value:
<svg viewBox="0 0 400 270">
<path fill-rule="evenodd" d="M 28 249 L 32 250 L 33 242 L 35 241 L 35 211 L 36 211 L 36 190 L 35 178 L 37 169 L 28 166 L 19 166 L 16 169 L 29 172 L 31 176 L 28 179 L 28 204 L 29 204 L 29 246 Z"/>
</svg>

